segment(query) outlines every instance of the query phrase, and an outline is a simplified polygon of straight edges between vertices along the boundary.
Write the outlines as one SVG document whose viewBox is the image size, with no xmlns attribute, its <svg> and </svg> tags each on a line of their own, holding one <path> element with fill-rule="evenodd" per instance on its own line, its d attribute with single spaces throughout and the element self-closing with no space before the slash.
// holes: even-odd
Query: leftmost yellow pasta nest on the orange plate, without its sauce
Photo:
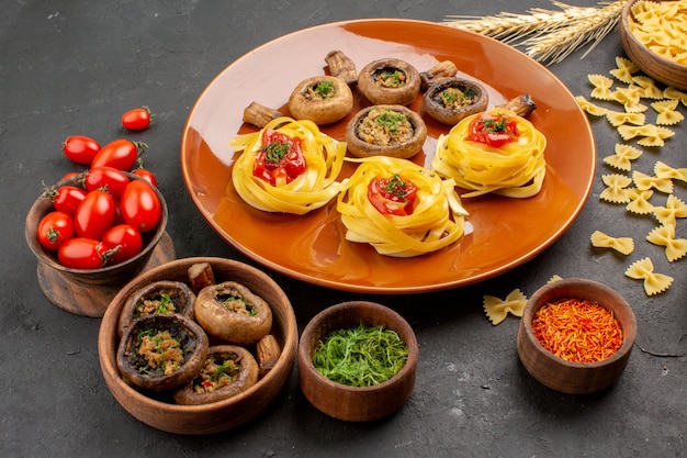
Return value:
<svg viewBox="0 0 687 458">
<path fill-rule="evenodd" d="M 272 186 L 254 176 L 256 156 L 263 148 L 262 135 L 268 129 L 302 139 L 306 169 L 291 182 Z M 320 132 L 312 121 L 281 116 L 259 132 L 232 138 L 229 145 L 243 150 L 234 163 L 232 182 L 241 199 L 258 210 L 302 215 L 326 205 L 339 193 L 341 183 L 336 179 L 344 166 L 346 143 Z"/>
</svg>

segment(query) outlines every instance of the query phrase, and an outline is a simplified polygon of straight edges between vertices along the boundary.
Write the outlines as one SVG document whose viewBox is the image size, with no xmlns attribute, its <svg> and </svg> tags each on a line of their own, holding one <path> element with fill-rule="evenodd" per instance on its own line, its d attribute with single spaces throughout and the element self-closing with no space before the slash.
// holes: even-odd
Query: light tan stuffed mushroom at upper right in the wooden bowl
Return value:
<svg viewBox="0 0 687 458">
<path fill-rule="evenodd" d="M 234 281 L 204 288 L 198 294 L 194 312 L 210 335 L 236 345 L 252 345 L 272 327 L 270 305 Z"/>
</svg>

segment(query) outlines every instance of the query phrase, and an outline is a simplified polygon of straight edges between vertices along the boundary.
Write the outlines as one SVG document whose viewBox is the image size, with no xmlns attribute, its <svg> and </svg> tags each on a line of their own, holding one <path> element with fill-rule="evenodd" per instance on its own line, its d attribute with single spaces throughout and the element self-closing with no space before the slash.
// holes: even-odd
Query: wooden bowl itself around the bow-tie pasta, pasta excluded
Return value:
<svg viewBox="0 0 687 458">
<path fill-rule="evenodd" d="M 677 64 L 652 52 L 630 32 L 631 9 L 635 2 L 637 0 L 629 0 L 623 7 L 620 16 L 620 41 L 624 52 L 650 77 L 664 85 L 687 90 L 687 66 Z"/>
</svg>

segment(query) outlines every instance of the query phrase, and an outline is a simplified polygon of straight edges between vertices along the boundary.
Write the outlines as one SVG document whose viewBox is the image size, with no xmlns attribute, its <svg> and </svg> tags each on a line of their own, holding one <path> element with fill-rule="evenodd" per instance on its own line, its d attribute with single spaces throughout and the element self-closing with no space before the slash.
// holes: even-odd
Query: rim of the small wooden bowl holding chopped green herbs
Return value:
<svg viewBox="0 0 687 458">
<path fill-rule="evenodd" d="M 329 380 L 322 373 L 315 369 L 315 365 L 313 364 L 312 353 L 311 353 L 311 340 L 312 335 L 315 329 L 320 325 L 320 323 L 327 320 L 330 316 L 336 316 L 345 310 L 356 310 L 358 308 L 368 308 L 372 310 L 384 311 L 384 313 L 390 314 L 394 317 L 394 328 L 387 326 L 388 323 L 385 323 L 385 326 L 392 331 L 396 331 L 396 328 L 401 328 L 404 334 L 404 340 L 406 347 L 408 348 L 408 359 L 403 368 L 391 379 L 372 386 L 372 387 L 349 387 L 347 384 L 337 383 L 333 380 Z M 398 332 L 398 331 L 396 331 Z M 398 334 L 402 334 L 398 332 Z M 304 371 L 304 376 L 311 377 L 318 381 L 320 384 L 326 384 L 328 388 L 334 390 L 341 391 L 350 391 L 352 393 L 367 393 L 367 392 L 375 392 L 375 391 L 384 391 L 390 389 L 398 383 L 401 383 L 406 377 L 413 375 L 415 372 L 415 368 L 417 367 L 417 361 L 419 358 L 419 349 L 417 345 L 417 337 L 410 324 L 395 310 L 380 304 L 378 302 L 371 301 L 346 301 L 339 302 L 335 305 L 328 306 L 322 312 L 317 313 L 305 326 L 303 333 L 301 334 L 300 343 L 299 343 L 299 368 Z"/>
</svg>

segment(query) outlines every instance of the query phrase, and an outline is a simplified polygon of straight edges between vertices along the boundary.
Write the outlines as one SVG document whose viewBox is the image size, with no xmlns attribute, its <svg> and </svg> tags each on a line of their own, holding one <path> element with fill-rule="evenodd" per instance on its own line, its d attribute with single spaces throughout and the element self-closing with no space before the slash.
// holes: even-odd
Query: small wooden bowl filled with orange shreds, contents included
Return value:
<svg viewBox="0 0 687 458">
<path fill-rule="evenodd" d="M 637 336 L 630 304 L 606 284 L 564 279 L 528 300 L 518 356 L 539 382 L 568 394 L 611 387 L 624 371 Z"/>
</svg>

